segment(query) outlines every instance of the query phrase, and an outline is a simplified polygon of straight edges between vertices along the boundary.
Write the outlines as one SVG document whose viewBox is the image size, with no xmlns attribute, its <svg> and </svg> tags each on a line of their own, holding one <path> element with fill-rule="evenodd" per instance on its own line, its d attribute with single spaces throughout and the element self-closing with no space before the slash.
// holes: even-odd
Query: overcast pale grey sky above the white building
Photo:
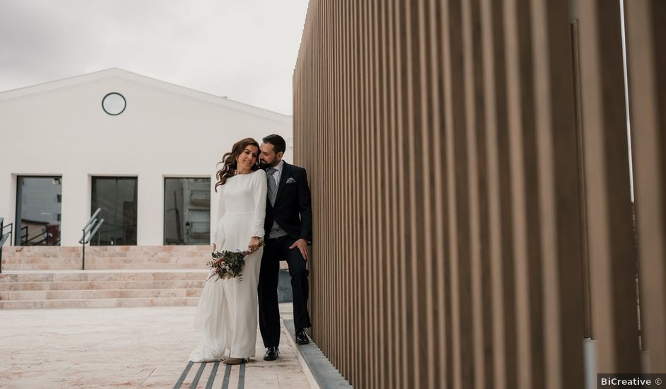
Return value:
<svg viewBox="0 0 666 389">
<path fill-rule="evenodd" d="M 0 0 L 0 91 L 118 67 L 292 114 L 307 0 Z"/>
</svg>

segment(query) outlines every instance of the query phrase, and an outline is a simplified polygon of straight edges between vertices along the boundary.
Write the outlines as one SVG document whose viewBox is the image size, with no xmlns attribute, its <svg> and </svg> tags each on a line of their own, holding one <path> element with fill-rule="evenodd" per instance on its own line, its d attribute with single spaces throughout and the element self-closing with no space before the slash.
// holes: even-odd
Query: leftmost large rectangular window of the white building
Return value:
<svg viewBox="0 0 666 389">
<path fill-rule="evenodd" d="M 60 245 L 60 177 L 18 177 L 16 245 Z"/>
</svg>

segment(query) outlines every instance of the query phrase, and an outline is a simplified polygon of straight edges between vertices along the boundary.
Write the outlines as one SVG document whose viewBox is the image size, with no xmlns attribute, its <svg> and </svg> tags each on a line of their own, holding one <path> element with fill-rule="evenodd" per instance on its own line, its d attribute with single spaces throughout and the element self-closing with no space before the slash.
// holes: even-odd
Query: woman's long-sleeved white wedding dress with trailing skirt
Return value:
<svg viewBox="0 0 666 389">
<path fill-rule="evenodd" d="M 264 238 L 266 216 L 266 173 L 256 170 L 235 175 L 218 187 L 215 228 L 217 250 L 247 250 L 252 236 Z M 261 254 L 264 248 L 245 258 L 242 279 L 206 281 L 196 307 L 194 327 L 200 342 L 190 361 L 219 361 L 225 357 L 254 356 L 257 299 Z"/>
</svg>

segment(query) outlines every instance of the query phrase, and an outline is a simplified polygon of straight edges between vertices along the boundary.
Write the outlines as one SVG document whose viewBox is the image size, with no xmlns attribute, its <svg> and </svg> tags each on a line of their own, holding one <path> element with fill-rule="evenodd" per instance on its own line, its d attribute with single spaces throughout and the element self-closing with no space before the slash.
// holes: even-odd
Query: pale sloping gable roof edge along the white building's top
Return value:
<svg viewBox="0 0 666 389">
<path fill-rule="evenodd" d="M 158 79 L 152 79 L 147 76 L 142 76 L 141 74 L 136 74 L 131 71 L 118 68 L 94 71 L 92 73 L 81 74 L 80 76 L 73 76 L 73 77 L 68 77 L 66 79 L 49 81 L 46 83 L 40 83 L 33 86 L 26 86 L 23 88 L 0 92 L 0 103 L 6 100 L 27 98 L 32 95 L 38 95 L 52 91 L 59 91 L 62 89 L 74 88 L 76 86 L 85 85 L 87 83 L 94 83 L 106 79 L 122 79 L 123 81 L 137 83 L 142 86 L 146 86 L 148 88 L 154 88 L 167 93 L 175 93 L 183 95 L 185 97 L 193 98 L 195 100 L 202 100 L 207 103 L 221 105 L 225 108 L 230 108 L 232 110 L 239 110 L 249 115 L 258 115 L 261 117 L 266 117 L 266 119 L 271 119 L 271 120 L 276 120 L 278 122 L 285 122 L 291 124 L 291 116 L 289 115 L 283 115 L 278 112 L 255 107 L 254 105 L 240 103 L 239 101 L 230 100 L 226 97 L 221 97 L 217 95 L 212 95 L 210 93 L 196 91 L 194 89 L 186 88 L 184 86 L 179 86 L 174 83 L 169 83 Z"/>
</svg>

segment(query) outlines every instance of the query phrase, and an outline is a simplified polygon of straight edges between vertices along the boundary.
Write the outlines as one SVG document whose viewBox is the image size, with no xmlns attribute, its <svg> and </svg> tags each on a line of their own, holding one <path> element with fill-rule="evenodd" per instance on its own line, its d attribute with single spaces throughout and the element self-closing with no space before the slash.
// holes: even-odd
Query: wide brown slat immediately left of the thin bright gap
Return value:
<svg viewBox="0 0 666 389">
<path fill-rule="evenodd" d="M 620 9 L 580 1 L 592 337 L 599 372 L 640 371 Z"/>
</svg>

